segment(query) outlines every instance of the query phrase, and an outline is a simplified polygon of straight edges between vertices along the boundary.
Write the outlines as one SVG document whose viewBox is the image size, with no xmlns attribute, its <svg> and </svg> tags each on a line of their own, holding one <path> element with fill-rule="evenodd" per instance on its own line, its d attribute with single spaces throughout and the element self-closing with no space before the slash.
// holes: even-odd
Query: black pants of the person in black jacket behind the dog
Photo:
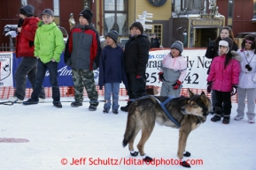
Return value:
<svg viewBox="0 0 256 170">
<path fill-rule="evenodd" d="M 146 95 L 146 77 L 136 78 L 135 73 L 128 73 L 128 91 L 129 99 L 137 99 Z"/>
</svg>

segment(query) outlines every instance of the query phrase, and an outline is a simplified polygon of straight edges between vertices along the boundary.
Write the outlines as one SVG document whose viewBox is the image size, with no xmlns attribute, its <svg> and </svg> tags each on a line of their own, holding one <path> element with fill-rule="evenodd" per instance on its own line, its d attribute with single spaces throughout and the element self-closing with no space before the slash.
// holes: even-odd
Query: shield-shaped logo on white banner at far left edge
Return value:
<svg viewBox="0 0 256 170">
<path fill-rule="evenodd" d="M 0 55 L 0 81 L 11 75 L 11 55 Z"/>
</svg>

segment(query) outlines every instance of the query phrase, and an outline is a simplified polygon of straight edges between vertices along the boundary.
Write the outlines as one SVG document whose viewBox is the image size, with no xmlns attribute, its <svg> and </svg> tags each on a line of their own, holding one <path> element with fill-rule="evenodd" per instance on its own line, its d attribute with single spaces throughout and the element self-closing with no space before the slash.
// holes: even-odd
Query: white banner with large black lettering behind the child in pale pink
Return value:
<svg viewBox="0 0 256 170">
<path fill-rule="evenodd" d="M 147 85 L 161 86 L 159 70 L 163 58 L 170 50 L 151 51 L 146 70 Z M 183 81 L 183 88 L 206 89 L 207 70 L 211 60 L 206 58 L 206 49 L 184 49 L 182 55 L 187 58 L 187 75 Z"/>
</svg>

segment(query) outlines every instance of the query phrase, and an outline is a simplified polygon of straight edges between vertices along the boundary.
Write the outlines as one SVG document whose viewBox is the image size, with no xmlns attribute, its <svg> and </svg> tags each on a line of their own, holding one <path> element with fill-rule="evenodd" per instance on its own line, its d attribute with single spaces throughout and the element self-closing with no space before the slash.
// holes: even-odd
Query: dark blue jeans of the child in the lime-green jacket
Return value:
<svg viewBox="0 0 256 170">
<path fill-rule="evenodd" d="M 45 77 L 46 70 L 49 70 L 50 74 L 50 85 L 52 90 L 52 99 L 53 101 L 59 101 L 60 100 L 60 93 L 58 88 L 58 63 L 57 62 L 49 62 L 49 63 L 43 63 L 41 60 L 38 60 L 37 63 L 37 73 L 35 78 L 35 89 L 31 94 L 31 98 L 33 100 L 38 101 L 38 96 L 41 92 L 42 85 L 43 85 L 43 79 Z"/>
</svg>

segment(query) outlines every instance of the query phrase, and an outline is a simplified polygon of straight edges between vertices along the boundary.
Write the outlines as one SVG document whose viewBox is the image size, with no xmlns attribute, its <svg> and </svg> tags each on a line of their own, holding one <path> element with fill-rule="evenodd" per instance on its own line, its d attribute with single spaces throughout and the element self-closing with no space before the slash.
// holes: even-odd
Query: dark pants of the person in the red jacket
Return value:
<svg viewBox="0 0 256 170">
<path fill-rule="evenodd" d="M 22 57 L 21 62 L 15 72 L 15 83 L 16 90 L 14 92 L 14 96 L 18 97 L 19 100 L 24 100 L 26 94 L 26 85 L 27 78 L 32 85 L 32 88 L 35 88 L 35 76 L 37 72 L 37 59 L 32 56 L 24 56 Z M 40 88 L 39 97 L 45 99 L 45 92 L 43 89 L 43 85 Z"/>
</svg>

